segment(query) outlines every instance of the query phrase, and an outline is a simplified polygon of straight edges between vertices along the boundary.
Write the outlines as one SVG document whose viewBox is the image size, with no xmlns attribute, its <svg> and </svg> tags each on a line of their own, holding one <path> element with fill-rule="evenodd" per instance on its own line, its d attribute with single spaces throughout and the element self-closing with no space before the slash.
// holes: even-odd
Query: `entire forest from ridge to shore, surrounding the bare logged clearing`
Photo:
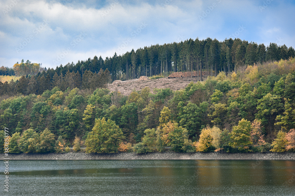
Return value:
<svg viewBox="0 0 295 196">
<path fill-rule="evenodd" d="M 55 70 L 22 60 L 11 74 L 21 78 L 0 82 L 0 145 L 9 153 L 293 152 L 294 54 L 275 43 L 207 38 Z M 175 71 L 205 75 L 179 91 L 107 89 L 117 79 Z"/>
</svg>

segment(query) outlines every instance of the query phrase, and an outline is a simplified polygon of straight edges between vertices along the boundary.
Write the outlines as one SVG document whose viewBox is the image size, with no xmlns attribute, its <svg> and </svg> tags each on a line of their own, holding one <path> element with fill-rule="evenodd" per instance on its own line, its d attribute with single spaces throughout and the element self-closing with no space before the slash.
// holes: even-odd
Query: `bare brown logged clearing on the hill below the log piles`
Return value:
<svg viewBox="0 0 295 196">
<path fill-rule="evenodd" d="M 130 80 L 122 83 L 108 84 L 108 89 L 112 91 L 119 91 L 127 96 L 135 89 L 140 91 L 145 87 L 150 87 L 151 92 L 155 88 L 170 88 L 173 91 L 185 88 L 191 81 L 183 81 L 183 78 L 159 78 L 153 80 Z"/>
</svg>

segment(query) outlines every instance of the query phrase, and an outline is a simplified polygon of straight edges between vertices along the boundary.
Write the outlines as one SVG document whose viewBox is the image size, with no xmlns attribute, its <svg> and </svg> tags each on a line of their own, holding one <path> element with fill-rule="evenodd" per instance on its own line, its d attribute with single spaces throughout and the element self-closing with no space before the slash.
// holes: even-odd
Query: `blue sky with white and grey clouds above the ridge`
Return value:
<svg viewBox="0 0 295 196">
<path fill-rule="evenodd" d="M 56 68 L 189 38 L 295 48 L 294 13 L 294 0 L 0 0 L 0 66 Z"/>
</svg>

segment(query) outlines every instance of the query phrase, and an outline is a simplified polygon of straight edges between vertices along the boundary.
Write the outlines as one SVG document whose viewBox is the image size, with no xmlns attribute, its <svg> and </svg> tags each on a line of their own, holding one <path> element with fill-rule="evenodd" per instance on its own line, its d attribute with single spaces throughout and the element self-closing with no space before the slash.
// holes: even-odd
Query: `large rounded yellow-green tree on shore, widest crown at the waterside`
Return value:
<svg viewBox="0 0 295 196">
<path fill-rule="evenodd" d="M 87 153 L 115 153 L 123 139 L 123 132 L 112 120 L 96 119 L 86 138 Z"/>
</svg>

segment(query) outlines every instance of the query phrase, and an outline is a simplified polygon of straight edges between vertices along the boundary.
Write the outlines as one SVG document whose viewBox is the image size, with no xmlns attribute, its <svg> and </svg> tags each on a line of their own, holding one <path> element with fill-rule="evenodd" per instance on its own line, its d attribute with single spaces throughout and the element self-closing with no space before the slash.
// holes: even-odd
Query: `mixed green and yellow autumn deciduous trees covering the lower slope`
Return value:
<svg viewBox="0 0 295 196">
<path fill-rule="evenodd" d="M 76 137 L 86 152 L 145 153 L 167 146 L 177 152 L 292 151 L 294 71 L 291 58 L 220 72 L 179 91 L 151 93 L 146 87 L 129 96 L 95 86 L 57 85 L 40 95 L 2 96 L 0 125 L 12 138 L 34 135 L 24 139 L 35 141 L 30 146 L 41 141 L 46 128 L 62 146 L 71 146 Z"/>
</svg>

